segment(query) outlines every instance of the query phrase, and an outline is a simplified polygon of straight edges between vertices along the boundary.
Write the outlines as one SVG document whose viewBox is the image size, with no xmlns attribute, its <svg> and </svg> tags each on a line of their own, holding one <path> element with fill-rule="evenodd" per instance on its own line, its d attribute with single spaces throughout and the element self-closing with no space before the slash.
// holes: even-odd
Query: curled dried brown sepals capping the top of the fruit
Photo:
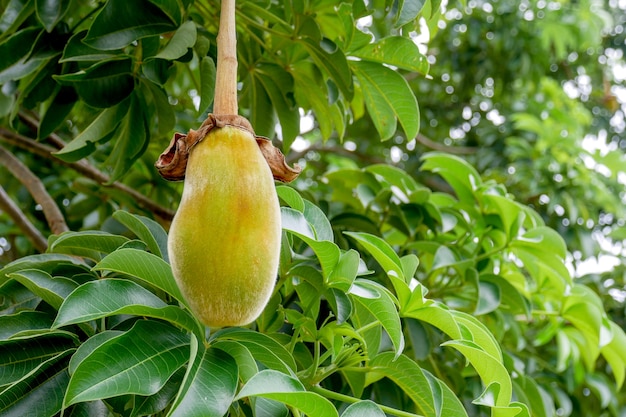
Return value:
<svg viewBox="0 0 626 417">
<path fill-rule="evenodd" d="M 186 135 L 175 133 L 168 147 L 163 151 L 154 166 L 159 174 L 168 181 L 181 181 L 185 179 L 187 160 L 194 145 L 203 140 L 206 135 L 215 128 L 234 126 L 250 132 L 259 145 L 263 157 L 269 165 L 275 180 L 291 182 L 300 174 L 301 168 L 295 165 L 293 168 L 285 162 L 285 156 L 272 142 L 264 137 L 256 136 L 248 119 L 239 115 L 214 115 L 209 114 L 200 129 L 191 129 Z"/>
</svg>

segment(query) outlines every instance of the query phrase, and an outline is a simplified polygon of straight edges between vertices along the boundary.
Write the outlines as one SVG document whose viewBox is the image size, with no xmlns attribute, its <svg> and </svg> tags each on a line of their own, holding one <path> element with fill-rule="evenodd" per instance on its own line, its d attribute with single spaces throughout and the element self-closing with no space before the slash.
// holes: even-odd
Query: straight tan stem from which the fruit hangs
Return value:
<svg viewBox="0 0 626 417">
<path fill-rule="evenodd" d="M 222 0 L 220 28 L 217 33 L 217 73 L 213 114 L 231 115 L 237 103 L 237 30 L 235 0 Z"/>
</svg>

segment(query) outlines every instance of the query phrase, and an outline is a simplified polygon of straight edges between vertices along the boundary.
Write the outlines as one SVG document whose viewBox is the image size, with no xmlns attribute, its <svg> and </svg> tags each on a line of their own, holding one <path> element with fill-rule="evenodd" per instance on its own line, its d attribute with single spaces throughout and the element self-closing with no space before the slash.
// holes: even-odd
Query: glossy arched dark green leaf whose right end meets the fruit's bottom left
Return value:
<svg viewBox="0 0 626 417">
<path fill-rule="evenodd" d="M 189 331 L 198 327 L 186 310 L 167 305 L 139 284 L 121 279 L 100 279 L 78 287 L 65 299 L 53 327 L 84 323 L 116 314 L 164 319 Z"/>
</svg>

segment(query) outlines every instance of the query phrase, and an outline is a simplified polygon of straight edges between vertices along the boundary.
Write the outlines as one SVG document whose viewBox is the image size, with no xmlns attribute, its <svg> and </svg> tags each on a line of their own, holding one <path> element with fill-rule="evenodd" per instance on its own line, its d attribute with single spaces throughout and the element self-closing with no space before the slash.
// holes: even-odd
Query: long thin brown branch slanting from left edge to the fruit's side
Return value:
<svg viewBox="0 0 626 417">
<path fill-rule="evenodd" d="M 162 220 L 171 221 L 172 218 L 174 217 L 173 210 L 170 210 L 166 207 L 159 205 L 157 202 L 149 199 L 148 197 L 141 194 L 137 190 L 131 187 L 128 187 L 127 185 L 119 181 L 109 183 L 110 177 L 107 174 L 95 168 L 93 165 L 89 164 L 89 162 L 87 162 L 86 160 L 81 160 L 78 162 L 63 161 L 62 159 L 59 159 L 56 156 L 54 156 L 54 154 L 52 153 L 52 152 L 56 152 L 57 149 L 51 146 L 45 145 L 43 143 L 39 143 L 26 136 L 4 129 L 2 127 L 0 127 L 0 140 L 4 140 L 28 152 L 39 155 L 46 159 L 50 159 L 54 161 L 55 163 L 71 168 L 74 171 L 78 172 L 79 174 L 85 176 L 86 178 L 89 178 L 97 182 L 103 187 L 110 187 L 118 191 L 121 191 L 129 195 L 130 197 L 132 197 L 140 207 L 151 211 Z"/>
</svg>

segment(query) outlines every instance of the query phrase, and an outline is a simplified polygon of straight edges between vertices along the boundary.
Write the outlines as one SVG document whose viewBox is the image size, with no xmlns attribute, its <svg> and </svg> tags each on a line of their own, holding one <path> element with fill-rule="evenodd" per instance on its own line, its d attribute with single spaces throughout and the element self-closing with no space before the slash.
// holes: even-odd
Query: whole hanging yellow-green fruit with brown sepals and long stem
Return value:
<svg viewBox="0 0 626 417">
<path fill-rule="evenodd" d="M 237 115 L 234 0 L 223 0 L 213 114 L 200 129 L 176 133 L 156 163 L 168 180 L 185 180 L 168 237 L 172 271 L 207 326 L 251 323 L 269 301 L 281 240 L 274 179 L 299 169 Z"/>
</svg>

